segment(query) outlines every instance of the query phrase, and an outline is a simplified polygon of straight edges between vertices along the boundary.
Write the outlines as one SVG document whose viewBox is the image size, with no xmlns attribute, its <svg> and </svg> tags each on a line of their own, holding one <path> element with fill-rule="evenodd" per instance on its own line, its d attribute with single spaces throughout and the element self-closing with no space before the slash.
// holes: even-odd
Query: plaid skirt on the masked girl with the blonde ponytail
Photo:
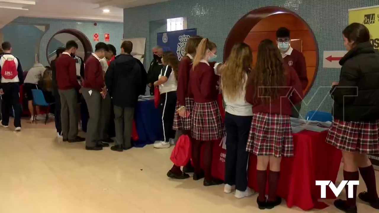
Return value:
<svg viewBox="0 0 379 213">
<path fill-rule="evenodd" d="M 224 137 L 224 124 L 216 101 L 194 104 L 191 135 L 192 138 L 200 141 L 217 140 Z"/>
</svg>

